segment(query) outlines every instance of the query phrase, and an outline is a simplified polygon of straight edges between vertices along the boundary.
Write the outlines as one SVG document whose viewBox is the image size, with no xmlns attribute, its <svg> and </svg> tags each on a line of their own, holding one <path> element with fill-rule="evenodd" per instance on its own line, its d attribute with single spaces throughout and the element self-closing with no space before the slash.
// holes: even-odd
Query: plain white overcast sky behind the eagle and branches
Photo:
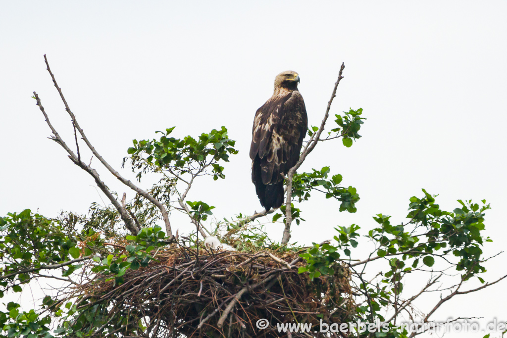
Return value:
<svg viewBox="0 0 507 338">
<path fill-rule="evenodd" d="M 486 227 L 494 243 L 485 252 L 503 250 L 507 4 L 308 4 L 2 2 L 0 214 L 25 208 L 46 216 L 85 213 L 91 202 L 101 202 L 92 178 L 46 138 L 49 128 L 30 98 L 38 92 L 57 130 L 74 145 L 43 54 L 89 139 L 117 169 L 133 138 L 152 138 L 171 126 L 178 137 L 197 136 L 225 125 L 240 151 L 225 166 L 226 180 L 198 180 L 189 194 L 216 206 L 219 219 L 261 210 L 248 149 L 253 116 L 270 97 L 275 75 L 300 74 L 309 123 L 317 125 L 344 61 L 332 113 L 364 108 L 363 138 L 351 148 L 340 140 L 319 144 L 302 169 L 329 165 L 341 173 L 344 185 L 357 188 L 358 211 L 339 213 L 337 203 L 315 198 L 302 205 L 307 221 L 294 226 L 292 240 L 331 239 L 338 224 L 369 230 L 377 213 L 400 222 L 409 198 L 425 188 L 451 210 L 456 199 L 490 202 Z M 134 197 L 98 161 L 92 164 L 120 196 Z M 133 178 L 129 170 L 122 174 Z M 172 224 L 180 233 L 191 229 L 177 215 Z M 280 240 L 282 225 L 268 227 Z M 491 261 L 485 279 L 505 274 L 504 260 Z M 455 298 L 432 318 L 505 320 L 504 288 Z M 420 308 L 427 312 L 431 304 Z"/>
</svg>

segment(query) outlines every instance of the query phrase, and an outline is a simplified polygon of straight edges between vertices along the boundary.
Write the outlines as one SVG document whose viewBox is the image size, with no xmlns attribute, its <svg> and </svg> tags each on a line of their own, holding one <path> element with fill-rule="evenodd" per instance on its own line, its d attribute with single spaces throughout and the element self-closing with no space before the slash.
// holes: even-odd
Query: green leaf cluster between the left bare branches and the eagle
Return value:
<svg viewBox="0 0 507 338">
<path fill-rule="evenodd" d="M 234 149 L 236 141 L 229 139 L 227 128 L 213 129 L 208 134 L 202 133 L 197 139 L 186 136 L 182 139 L 170 137 L 174 127 L 167 128 L 159 140 L 133 140 L 128 148 L 132 169 L 142 173 L 148 171 L 170 170 L 181 175 L 184 173 L 200 174 L 210 168 L 213 179 L 225 178 L 224 167 L 219 161 L 229 162 L 229 154 L 237 154 Z M 127 158 L 123 160 L 125 163 Z"/>
</svg>

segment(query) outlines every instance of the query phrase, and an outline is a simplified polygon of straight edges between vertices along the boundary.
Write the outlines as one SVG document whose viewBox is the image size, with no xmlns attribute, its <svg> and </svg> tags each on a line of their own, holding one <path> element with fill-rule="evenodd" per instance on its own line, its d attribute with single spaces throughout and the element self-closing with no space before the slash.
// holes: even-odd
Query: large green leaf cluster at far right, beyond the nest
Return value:
<svg viewBox="0 0 507 338">
<path fill-rule="evenodd" d="M 478 273 L 485 272 L 482 263 L 481 246 L 484 238 L 484 211 L 490 209 L 483 201 L 479 206 L 472 201 L 463 203 L 454 211 L 444 211 L 435 203 L 434 196 L 423 190 L 424 197 L 412 197 L 409 205 L 409 222 L 391 226 L 389 216 L 378 214 L 374 217 L 380 225 L 369 232 L 369 237 L 379 245 L 379 256 L 400 255 L 403 260 L 416 258 L 414 268 L 419 265 L 418 257 L 425 256 L 423 264 L 432 267 L 434 257 L 452 252 L 459 258 L 456 270 L 463 271 L 466 280 Z M 411 231 L 407 231 L 409 228 Z M 425 241 L 422 241 L 422 235 Z M 441 252 L 441 253 L 438 253 Z M 429 256 L 428 256 L 429 255 Z"/>
</svg>

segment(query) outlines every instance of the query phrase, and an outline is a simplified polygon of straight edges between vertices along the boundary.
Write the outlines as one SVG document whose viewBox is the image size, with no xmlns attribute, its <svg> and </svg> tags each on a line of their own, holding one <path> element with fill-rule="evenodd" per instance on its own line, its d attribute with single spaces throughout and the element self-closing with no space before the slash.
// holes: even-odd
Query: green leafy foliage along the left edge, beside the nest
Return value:
<svg viewBox="0 0 507 338">
<path fill-rule="evenodd" d="M 108 210 L 100 210 L 98 206 L 94 207 L 91 214 L 91 218 L 86 218 L 66 213 L 62 214 L 61 219 L 50 219 L 27 209 L 0 217 L 0 296 L 8 290 L 20 292 L 22 284 L 38 278 L 42 271 L 51 274 L 51 271 L 59 270 L 62 278 L 71 277 L 86 261 L 90 272 L 97 274 L 98 278 L 104 276 L 121 284 L 127 269 L 147 267 L 153 259 L 150 252 L 166 245 L 162 228 L 155 226 L 143 228 L 136 236 L 124 237 L 124 241 L 129 243 L 124 248 L 113 246 L 113 250 L 104 251 L 106 243 L 93 228 L 110 222 L 111 214 Z M 99 215 L 102 217 L 100 222 Z M 79 228 L 82 229 L 81 232 L 77 231 Z M 72 263 L 77 258 L 82 261 Z M 48 326 L 52 318 L 64 315 L 62 326 L 53 334 L 66 336 L 79 331 L 83 320 L 100 322 L 96 314 L 89 315 L 90 311 L 102 311 L 104 315 L 107 312 L 106 309 L 93 310 L 93 307 L 87 309 L 86 313 L 81 313 L 83 316 L 79 317 L 78 325 L 73 326 L 65 318 L 74 318 L 79 312 L 78 308 L 71 302 L 67 302 L 63 309 L 61 305 L 52 297 L 45 297 L 41 309 L 49 310 L 51 315 L 42 317 L 35 310 L 21 312 L 19 304 L 11 302 L 7 305 L 8 312 L 0 312 L 0 327 L 7 337 L 21 335 L 50 338 L 53 335 L 49 333 Z"/>
</svg>

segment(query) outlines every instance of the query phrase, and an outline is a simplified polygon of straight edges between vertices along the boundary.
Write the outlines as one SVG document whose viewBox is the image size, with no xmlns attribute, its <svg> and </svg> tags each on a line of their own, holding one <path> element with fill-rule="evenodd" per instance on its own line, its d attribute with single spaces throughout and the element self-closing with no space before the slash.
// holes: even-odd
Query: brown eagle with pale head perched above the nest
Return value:
<svg viewBox="0 0 507 338">
<path fill-rule="evenodd" d="M 283 71 L 275 78 L 273 96 L 257 109 L 250 159 L 252 182 L 261 205 L 269 211 L 283 203 L 283 179 L 299 160 L 308 119 L 298 91 L 299 76 Z"/>
</svg>

